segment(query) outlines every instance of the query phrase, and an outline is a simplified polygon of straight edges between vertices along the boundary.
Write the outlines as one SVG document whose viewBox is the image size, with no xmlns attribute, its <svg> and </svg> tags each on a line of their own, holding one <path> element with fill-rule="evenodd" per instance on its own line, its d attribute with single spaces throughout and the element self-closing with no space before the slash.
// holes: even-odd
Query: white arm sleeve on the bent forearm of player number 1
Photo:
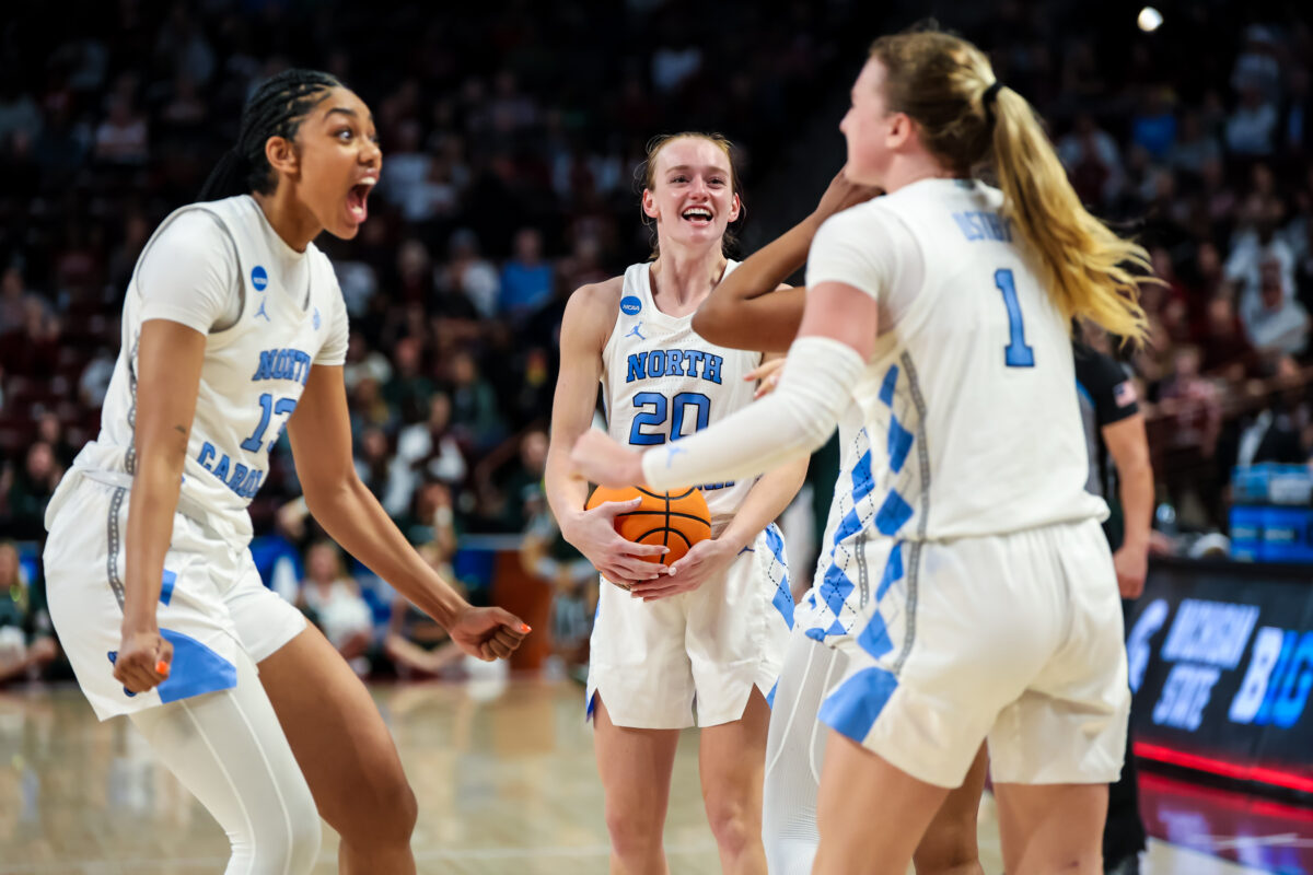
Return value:
<svg viewBox="0 0 1313 875">
<path fill-rule="evenodd" d="M 800 337 L 773 394 L 693 436 L 647 450 L 643 479 L 663 491 L 739 480 L 811 453 L 834 432 L 864 367 L 847 344 Z"/>
</svg>

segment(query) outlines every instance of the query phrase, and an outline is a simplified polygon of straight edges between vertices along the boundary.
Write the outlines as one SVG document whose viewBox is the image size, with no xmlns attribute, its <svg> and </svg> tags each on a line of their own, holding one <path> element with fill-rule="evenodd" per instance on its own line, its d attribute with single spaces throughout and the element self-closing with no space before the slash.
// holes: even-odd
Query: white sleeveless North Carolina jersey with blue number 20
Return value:
<svg viewBox="0 0 1313 875">
<path fill-rule="evenodd" d="M 729 275 L 737 261 L 725 268 Z M 762 353 L 727 349 L 693 331 L 693 316 L 668 316 L 653 303 L 651 264 L 625 270 L 620 312 L 601 352 L 607 428 L 621 443 L 645 450 L 687 437 L 752 403 L 743 378 Z M 743 504 L 752 480 L 697 485 L 718 531 Z"/>
</svg>

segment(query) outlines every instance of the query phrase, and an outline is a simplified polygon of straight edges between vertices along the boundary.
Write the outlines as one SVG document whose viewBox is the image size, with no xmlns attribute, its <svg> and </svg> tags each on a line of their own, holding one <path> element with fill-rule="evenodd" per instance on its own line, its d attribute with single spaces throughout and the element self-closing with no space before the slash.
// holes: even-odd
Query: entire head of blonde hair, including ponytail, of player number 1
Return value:
<svg viewBox="0 0 1313 875">
<path fill-rule="evenodd" d="M 922 143 L 945 167 L 965 177 L 993 161 L 1003 210 L 1039 256 L 1044 286 L 1062 315 L 1144 341 L 1138 283 L 1153 281 L 1149 253 L 1090 215 L 1035 110 L 997 84 L 983 52 L 952 34 L 911 30 L 881 37 L 871 56 L 888 73 L 889 110 L 916 122 Z"/>
</svg>

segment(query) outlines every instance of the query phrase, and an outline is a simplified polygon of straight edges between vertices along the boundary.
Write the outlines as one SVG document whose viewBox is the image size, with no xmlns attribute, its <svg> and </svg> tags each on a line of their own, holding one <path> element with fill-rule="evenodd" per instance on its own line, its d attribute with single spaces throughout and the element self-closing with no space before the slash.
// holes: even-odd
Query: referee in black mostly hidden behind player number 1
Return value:
<svg viewBox="0 0 1313 875">
<path fill-rule="evenodd" d="M 1103 530 L 1112 547 L 1123 617 L 1129 618 L 1145 586 L 1153 519 L 1153 468 L 1145 421 L 1136 403 L 1134 384 L 1113 358 L 1077 342 L 1075 380 L 1090 451 L 1086 489 L 1102 496 L 1112 512 Z M 1121 779 L 1108 787 L 1104 872 L 1138 875 L 1144 849 L 1145 828 L 1140 819 L 1140 791 L 1128 732 Z"/>
</svg>

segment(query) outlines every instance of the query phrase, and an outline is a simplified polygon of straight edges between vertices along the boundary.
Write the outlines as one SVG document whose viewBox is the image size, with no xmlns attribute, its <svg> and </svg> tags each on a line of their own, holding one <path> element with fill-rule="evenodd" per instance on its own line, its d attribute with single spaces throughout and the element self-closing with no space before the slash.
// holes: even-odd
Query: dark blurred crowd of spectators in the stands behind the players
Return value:
<svg viewBox="0 0 1313 875">
<path fill-rule="evenodd" d="M 1165 10 L 1159 33 L 1138 35 L 1069 1 L 944 24 L 989 47 L 1045 114 L 1082 199 L 1150 247 L 1163 279 L 1145 293 L 1153 344 L 1128 354 L 1092 340 L 1140 382 L 1159 499 L 1207 529 L 1225 518 L 1232 466 L 1305 462 L 1313 447 L 1313 31 L 1295 10 Z M 340 76 L 385 150 L 360 236 L 319 241 L 352 317 L 361 478 L 470 586 L 487 575 L 458 540 L 525 534 L 525 569 L 565 594 L 554 622 L 569 649 L 586 640 L 591 596 L 542 499 L 544 426 L 566 298 L 650 249 L 634 186 L 646 140 L 726 132 L 751 213 L 755 188 L 786 188 L 790 142 L 834 129 L 817 94 L 842 93 L 869 37 L 910 21 L 846 0 L 74 0 L 58 26 L 37 7 L 7 14 L 0 531 L 29 560 L 0 600 L 25 606 L 24 672 L 41 632 L 41 600 L 24 593 L 39 577 L 42 512 L 98 428 L 137 257 L 194 198 L 263 76 L 290 64 Z M 786 219 L 814 195 L 797 192 Z M 437 631 L 323 543 L 298 495 L 284 441 L 252 506 L 267 581 L 362 670 L 444 670 Z"/>
</svg>

